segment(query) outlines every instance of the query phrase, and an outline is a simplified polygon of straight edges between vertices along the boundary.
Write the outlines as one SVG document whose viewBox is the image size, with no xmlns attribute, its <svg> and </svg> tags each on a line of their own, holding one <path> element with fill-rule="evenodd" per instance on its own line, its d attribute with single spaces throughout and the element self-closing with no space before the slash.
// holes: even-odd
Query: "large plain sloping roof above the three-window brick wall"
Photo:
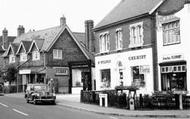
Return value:
<svg viewBox="0 0 190 119">
<path fill-rule="evenodd" d="M 151 12 L 162 0 L 121 0 L 95 28 L 117 23 Z"/>
</svg>

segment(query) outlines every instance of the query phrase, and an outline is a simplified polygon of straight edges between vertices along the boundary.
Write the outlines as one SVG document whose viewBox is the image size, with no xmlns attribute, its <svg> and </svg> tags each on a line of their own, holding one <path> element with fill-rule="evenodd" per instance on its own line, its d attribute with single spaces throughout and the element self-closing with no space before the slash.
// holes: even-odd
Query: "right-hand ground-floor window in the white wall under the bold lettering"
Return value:
<svg viewBox="0 0 190 119">
<path fill-rule="evenodd" d="M 133 77 L 132 85 L 137 87 L 145 86 L 144 74 L 140 72 L 140 66 L 132 67 L 132 77 Z"/>
</svg>

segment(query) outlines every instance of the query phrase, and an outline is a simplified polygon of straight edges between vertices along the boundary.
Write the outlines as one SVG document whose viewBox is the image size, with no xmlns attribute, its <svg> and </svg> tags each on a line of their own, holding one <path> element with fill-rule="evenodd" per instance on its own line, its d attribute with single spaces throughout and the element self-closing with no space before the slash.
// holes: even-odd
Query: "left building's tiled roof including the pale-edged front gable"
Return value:
<svg viewBox="0 0 190 119">
<path fill-rule="evenodd" d="M 54 43 L 57 41 L 57 39 L 60 37 L 60 35 L 64 32 L 64 30 L 67 30 L 69 32 L 74 42 L 77 44 L 77 46 L 86 56 L 86 58 L 91 59 L 89 57 L 89 54 L 87 54 L 87 52 L 85 51 L 85 49 L 82 47 L 81 43 L 79 42 L 79 41 L 84 41 L 84 38 L 85 38 L 83 36 L 84 34 L 76 33 L 74 35 L 74 33 L 71 32 L 71 30 L 66 24 L 64 26 L 57 26 L 57 27 L 52 27 L 52 28 L 48 28 L 44 30 L 33 31 L 33 32 L 22 34 L 21 36 L 17 37 L 13 43 L 21 43 L 21 41 L 34 40 L 36 45 L 40 49 L 40 51 L 48 52 L 51 49 L 51 47 L 54 45 Z M 79 41 L 78 41 L 78 38 L 80 39 Z M 31 47 L 29 50 L 31 50 Z"/>
</svg>

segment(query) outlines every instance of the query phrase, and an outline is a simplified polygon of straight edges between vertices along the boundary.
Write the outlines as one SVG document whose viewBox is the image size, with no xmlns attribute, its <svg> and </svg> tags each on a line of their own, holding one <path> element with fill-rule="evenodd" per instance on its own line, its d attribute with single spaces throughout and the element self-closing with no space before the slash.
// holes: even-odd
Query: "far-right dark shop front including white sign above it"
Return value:
<svg viewBox="0 0 190 119">
<path fill-rule="evenodd" d="M 162 56 L 159 65 L 162 91 L 187 91 L 187 62 L 182 54 Z"/>
</svg>

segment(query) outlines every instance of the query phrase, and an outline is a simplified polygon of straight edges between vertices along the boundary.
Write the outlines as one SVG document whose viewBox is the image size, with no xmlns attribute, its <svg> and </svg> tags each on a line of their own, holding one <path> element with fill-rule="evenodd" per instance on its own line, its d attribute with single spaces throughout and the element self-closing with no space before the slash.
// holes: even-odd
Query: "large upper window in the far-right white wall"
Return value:
<svg viewBox="0 0 190 119">
<path fill-rule="evenodd" d="M 163 45 L 180 43 L 180 24 L 179 20 L 164 23 L 163 27 Z"/>
</svg>

